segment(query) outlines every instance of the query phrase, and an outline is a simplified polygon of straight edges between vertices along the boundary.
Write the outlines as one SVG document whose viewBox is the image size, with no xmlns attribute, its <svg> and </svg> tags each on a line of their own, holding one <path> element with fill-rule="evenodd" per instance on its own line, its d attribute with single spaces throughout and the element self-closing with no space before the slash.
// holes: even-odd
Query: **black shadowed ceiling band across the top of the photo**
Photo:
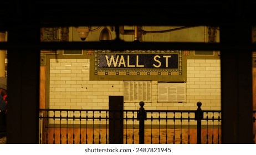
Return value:
<svg viewBox="0 0 256 155">
<path fill-rule="evenodd" d="M 0 30 L 65 25 L 255 25 L 256 1 L 2 0 Z M 4 6 L 4 7 L 3 7 Z"/>
</svg>

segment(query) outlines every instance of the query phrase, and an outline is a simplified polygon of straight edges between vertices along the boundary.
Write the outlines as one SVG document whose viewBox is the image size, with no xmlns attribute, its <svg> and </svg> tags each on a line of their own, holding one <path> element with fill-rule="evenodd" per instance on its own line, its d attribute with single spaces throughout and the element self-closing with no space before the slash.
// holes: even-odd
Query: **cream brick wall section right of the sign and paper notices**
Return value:
<svg viewBox="0 0 256 155">
<path fill-rule="evenodd" d="M 201 101 L 203 110 L 221 110 L 221 61 L 187 60 L 187 104 Z"/>
</svg>

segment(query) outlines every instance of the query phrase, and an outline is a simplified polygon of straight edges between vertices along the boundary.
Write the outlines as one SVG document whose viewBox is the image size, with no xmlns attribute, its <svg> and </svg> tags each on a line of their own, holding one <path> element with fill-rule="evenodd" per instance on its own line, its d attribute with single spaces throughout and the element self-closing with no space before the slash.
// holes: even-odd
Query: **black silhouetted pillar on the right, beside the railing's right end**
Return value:
<svg viewBox="0 0 256 155">
<path fill-rule="evenodd" d="M 221 43 L 250 44 L 252 29 L 247 25 L 224 25 Z M 253 143 L 252 51 L 221 51 L 222 143 Z"/>
</svg>

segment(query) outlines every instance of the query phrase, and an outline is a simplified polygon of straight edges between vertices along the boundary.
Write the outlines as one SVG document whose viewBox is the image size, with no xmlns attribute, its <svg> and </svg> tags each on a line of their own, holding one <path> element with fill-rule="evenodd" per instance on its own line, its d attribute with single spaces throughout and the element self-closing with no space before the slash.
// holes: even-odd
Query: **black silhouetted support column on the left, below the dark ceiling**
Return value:
<svg viewBox="0 0 256 155">
<path fill-rule="evenodd" d="M 40 28 L 13 28 L 8 42 L 37 44 Z M 19 44 L 18 44 L 19 45 Z M 17 45 L 17 46 L 18 46 Z M 17 47 L 8 50 L 7 143 L 38 143 L 40 50 Z"/>
</svg>

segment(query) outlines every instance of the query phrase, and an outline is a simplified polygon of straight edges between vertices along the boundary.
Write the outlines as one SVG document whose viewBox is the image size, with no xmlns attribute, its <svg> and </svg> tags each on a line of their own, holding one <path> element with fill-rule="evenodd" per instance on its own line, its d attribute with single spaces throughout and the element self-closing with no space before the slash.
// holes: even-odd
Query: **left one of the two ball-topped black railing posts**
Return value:
<svg viewBox="0 0 256 155">
<path fill-rule="evenodd" d="M 146 111 L 144 109 L 145 103 L 143 101 L 140 101 L 140 110 L 137 113 L 137 119 L 140 122 L 139 125 L 139 143 L 144 144 L 144 136 L 145 136 L 145 120 L 146 120 Z"/>
</svg>

